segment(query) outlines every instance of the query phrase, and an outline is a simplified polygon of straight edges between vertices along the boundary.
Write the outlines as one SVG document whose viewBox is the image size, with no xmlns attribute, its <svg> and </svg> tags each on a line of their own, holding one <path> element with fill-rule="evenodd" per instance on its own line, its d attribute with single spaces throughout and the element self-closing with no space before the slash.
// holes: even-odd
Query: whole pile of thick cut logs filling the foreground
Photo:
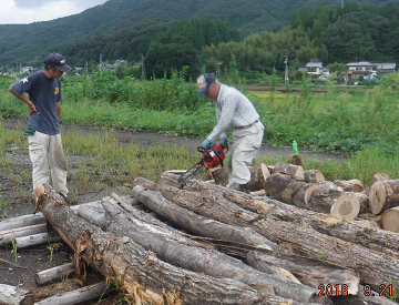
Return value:
<svg viewBox="0 0 399 305">
<path fill-rule="evenodd" d="M 377 174 L 365 189 L 285 163 L 250 171 L 252 194 L 223 186 L 218 169 L 212 182 L 137 177 L 131 196 L 78 211 L 48 184 L 33 199 L 75 253 L 64 267 L 91 265 L 135 304 L 396 304 L 381 295 L 399 291 L 399 234 L 379 225 L 397 223 L 398 181 Z"/>
</svg>

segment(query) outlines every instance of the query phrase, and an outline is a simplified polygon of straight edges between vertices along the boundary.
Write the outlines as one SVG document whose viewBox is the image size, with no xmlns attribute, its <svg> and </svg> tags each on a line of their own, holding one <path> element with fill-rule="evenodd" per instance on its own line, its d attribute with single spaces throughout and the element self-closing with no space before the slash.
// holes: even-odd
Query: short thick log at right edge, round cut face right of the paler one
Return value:
<svg viewBox="0 0 399 305">
<path fill-rule="evenodd" d="M 371 213 L 375 215 L 399 205 L 399 180 L 374 183 L 370 187 L 369 203 Z"/>
</svg>

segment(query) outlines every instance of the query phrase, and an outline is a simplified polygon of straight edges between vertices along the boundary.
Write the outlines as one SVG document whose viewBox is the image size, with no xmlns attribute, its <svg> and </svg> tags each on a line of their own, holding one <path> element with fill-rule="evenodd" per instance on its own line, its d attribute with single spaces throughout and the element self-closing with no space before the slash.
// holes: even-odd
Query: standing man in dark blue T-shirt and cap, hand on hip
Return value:
<svg viewBox="0 0 399 305">
<path fill-rule="evenodd" d="M 42 71 L 11 84 L 9 91 L 29 105 L 29 156 L 33 165 L 33 190 L 50 183 L 68 199 L 66 162 L 60 134 L 60 114 L 63 99 L 60 78 L 71 70 L 59 53 L 51 53 Z M 27 92 L 29 98 L 23 93 Z"/>
</svg>

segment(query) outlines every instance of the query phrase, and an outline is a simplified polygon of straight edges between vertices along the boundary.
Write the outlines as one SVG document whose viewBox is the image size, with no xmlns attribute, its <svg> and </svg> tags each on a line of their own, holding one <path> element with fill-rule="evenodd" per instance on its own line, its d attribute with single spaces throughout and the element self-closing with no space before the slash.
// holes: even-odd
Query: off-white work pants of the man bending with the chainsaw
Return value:
<svg viewBox="0 0 399 305">
<path fill-rule="evenodd" d="M 262 145 L 264 129 L 260 122 L 256 122 L 248 128 L 234 130 L 227 165 L 227 187 L 237 190 L 238 184 L 249 182 L 250 172 L 248 165 L 250 165 Z"/>
</svg>

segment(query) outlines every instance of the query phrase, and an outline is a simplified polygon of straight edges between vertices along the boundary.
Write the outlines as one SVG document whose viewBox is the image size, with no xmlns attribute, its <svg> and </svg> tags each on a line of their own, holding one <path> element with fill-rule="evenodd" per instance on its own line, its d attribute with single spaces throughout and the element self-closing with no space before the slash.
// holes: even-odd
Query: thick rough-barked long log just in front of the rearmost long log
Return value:
<svg viewBox="0 0 399 305">
<path fill-rule="evenodd" d="M 257 213 L 227 202 L 226 194 L 223 192 L 216 193 L 212 190 L 201 193 L 190 192 L 172 189 L 162 183 L 156 186 L 166 199 L 203 216 L 233 225 L 253 227 L 272 241 L 286 244 L 291 253 L 299 253 L 307 257 L 326 256 L 330 263 L 352 268 L 358 272 L 360 281 L 369 283 L 375 289 L 378 289 L 381 283 L 390 283 L 390 281 L 395 283 L 393 285 L 399 285 L 397 257 L 321 234 L 293 214 L 287 214 L 287 209 L 279 211 L 270 209 L 267 215 L 259 216 Z M 201 189 L 201 186 L 197 185 L 194 189 Z M 356 237 L 359 238 L 359 236 Z"/>
</svg>

